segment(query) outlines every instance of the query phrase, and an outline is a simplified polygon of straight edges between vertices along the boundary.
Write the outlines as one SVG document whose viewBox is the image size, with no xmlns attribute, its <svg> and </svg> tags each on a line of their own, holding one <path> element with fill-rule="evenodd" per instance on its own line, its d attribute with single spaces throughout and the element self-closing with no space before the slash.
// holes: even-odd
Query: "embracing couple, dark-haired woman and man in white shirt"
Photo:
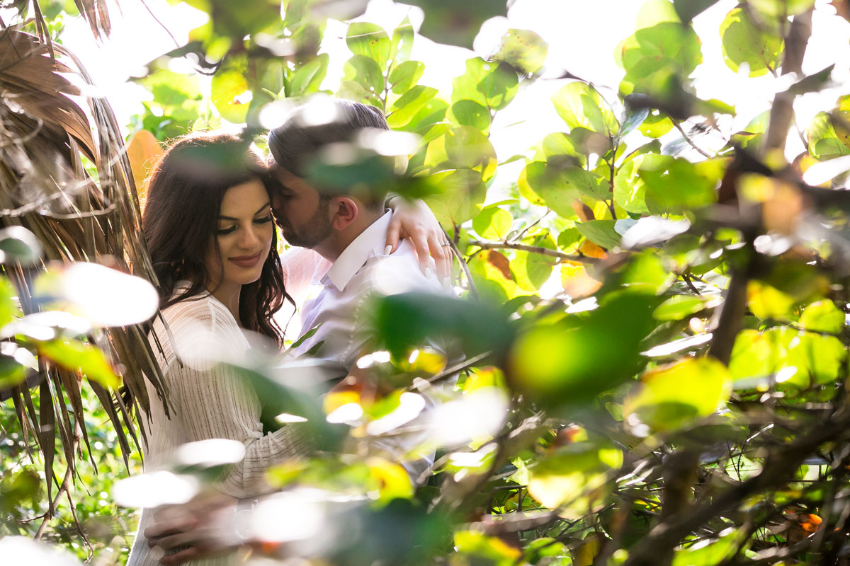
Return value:
<svg viewBox="0 0 850 566">
<path fill-rule="evenodd" d="M 173 411 L 169 417 L 161 403 L 151 402 L 150 415 L 140 418 L 149 429 L 146 467 L 167 463 L 188 442 L 237 440 L 245 457 L 218 490 L 235 498 L 268 492 L 265 470 L 307 457 L 309 435 L 297 424 L 263 434 L 256 393 L 234 370 L 211 366 L 202 350 L 216 343 L 247 350 L 244 330 L 282 345 L 275 313 L 314 283 L 301 317 L 304 330 L 320 327 L 295 353 L 321 343 L 317 365 L 343 378 L 371 339 L 364 306 L 372 294 L 386 283 L 420 291 L 445 283 L 450 254 L 427 207 L 385 211 L 383 195 L 329 193 L 305 180 L 310 160 L 331 144 L 388 129 L 380 111 L 364 104 L 333 100 L 331 111 L 334 116 L 316 123 L 310 104 L 293 110 L 269 133 L 268 164 L 240 137 L 220 133 L 181 138 L 157 163 L 143 230 L 167 322 L 156 319 L 151 339 L 158 341 L 154 351 Z M 281 258 L 275 223 L 289 244 L 304 249 Z M 410 238 L 399 244 L 399 235 Z M 153 521 L 144 510 L 139 533 Z M 128 564 L 156 564 L 143 535 Z"/>
</svg>

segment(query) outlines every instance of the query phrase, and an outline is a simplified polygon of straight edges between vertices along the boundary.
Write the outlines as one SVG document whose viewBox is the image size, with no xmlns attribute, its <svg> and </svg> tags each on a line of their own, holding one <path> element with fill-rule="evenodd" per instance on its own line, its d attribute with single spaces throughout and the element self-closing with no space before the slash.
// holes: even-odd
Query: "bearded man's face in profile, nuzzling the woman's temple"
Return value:
<svg viewBox="0 0 850 566">
<path fill-rule="evenodd" d="M 275 166 L 272 174 L 280 183 L 280 190 L 272 195 L 272 208 L 286 242 L 301 248 L 324 242 L 333 233 L 328 201 L 283 167 Z"/>
</svg>

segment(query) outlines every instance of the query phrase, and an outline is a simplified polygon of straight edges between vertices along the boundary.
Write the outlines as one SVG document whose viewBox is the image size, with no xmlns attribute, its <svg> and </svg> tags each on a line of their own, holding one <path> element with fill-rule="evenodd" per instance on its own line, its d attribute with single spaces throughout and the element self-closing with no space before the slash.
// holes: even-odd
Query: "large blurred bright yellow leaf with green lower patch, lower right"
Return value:
<svg viewBox="0 0 850 566">
<path fill-rule="evenodd" d="M 638 389 L 626 397 L 623 414 L 649 427 L 640 435 L 678 429 L 717 411 L 728 401 L 731 383 L 722 362 L 712 357 L 684 358 L 644 373 Z"/>
</svg>

